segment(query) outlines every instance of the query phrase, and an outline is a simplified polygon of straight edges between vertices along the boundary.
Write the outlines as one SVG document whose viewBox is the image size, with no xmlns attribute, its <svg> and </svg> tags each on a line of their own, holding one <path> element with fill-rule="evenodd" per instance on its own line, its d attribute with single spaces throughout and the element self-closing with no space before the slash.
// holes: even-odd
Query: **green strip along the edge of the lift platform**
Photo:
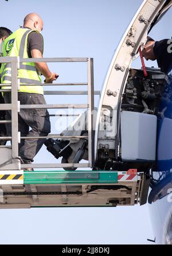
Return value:
<svg viewBox="0 0 172 256">
<path fill-rule="evenodd" d="M 118 183 L 118 172 L 65 172 L 34 171 L 24 172 L 24 184 L 84 184 Z"/>
</svg>

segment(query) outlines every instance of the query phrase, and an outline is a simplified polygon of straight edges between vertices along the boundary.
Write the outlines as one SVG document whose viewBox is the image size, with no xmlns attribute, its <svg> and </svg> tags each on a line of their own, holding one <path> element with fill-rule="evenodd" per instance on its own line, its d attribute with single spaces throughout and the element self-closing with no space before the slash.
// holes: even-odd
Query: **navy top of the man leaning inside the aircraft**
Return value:
<svg viewBox="0 0 172 256">
<path fill-rule="evenodd" d="M 155 42 L 154 54 L 157 58 L 158 67 L 161 68 L 162 72 L 167 73 L 172 65 L 172 40 L 164 39 Z"/>
</svg>

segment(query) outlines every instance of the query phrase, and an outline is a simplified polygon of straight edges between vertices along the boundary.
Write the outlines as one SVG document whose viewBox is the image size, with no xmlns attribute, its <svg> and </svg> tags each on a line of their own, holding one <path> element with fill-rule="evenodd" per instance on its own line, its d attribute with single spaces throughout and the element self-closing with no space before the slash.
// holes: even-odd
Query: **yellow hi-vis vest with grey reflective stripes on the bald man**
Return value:
<svg viewBox="0 0 172 256">
<path fill-rule="evenodd" d="M 26 31 L 25 31 L 26 30 Z M 11 34 L 3 44 L 3 55 L 7 56 L 6 49 L 9 49 L 9 56 L 19 56 L 21 58 L 29 58 L 27 52 L 27 42 L 29 33 L 36 31 L 30 29 L 18 29 Z M 37 31 L 36 31 L 37 32 Z M 38 32 L 37 32 L 38 33 Z M 14 39 L 14 40 L 13 40 Z M 10 48 L 10 40 L 13 41 L 13 45 Z M 11 64 L 3 63 L 1 69 L 1 83 L 11 82 Z M 20 63 L 18 78 L 20 83 L 38 84 L 41 83 L 41 76 L 34 63 Z M 11 87 L 2 87 L 3 89 L 9 89 Z M 19 92 L 29 92 L 36 94 L 44 94 L 42 86 L 20 86 Z"/>
</svg>

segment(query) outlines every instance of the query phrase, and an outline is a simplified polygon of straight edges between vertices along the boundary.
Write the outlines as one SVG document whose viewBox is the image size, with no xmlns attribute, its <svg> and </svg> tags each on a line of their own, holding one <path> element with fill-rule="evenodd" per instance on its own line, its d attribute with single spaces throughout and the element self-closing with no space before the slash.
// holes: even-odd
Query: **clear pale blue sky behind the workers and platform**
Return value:
<svg viewBox="0 0 172 256">
<path fill-rule="evenodd" d="M 142 0 L 1 0 L 1 26 L 18 29 L 26 14 L 44 20 L 44 57 L 93 57 L 95 89 L 100 90 L 116 46 Z M 171 21 L 171 13 L 167 17 Z M 170 22 L 171 24 L 171 22 Z M 155 40 L 171 37 L 167 21 L 153 30 Z M 140 61 L 134 65 L 140 67 Z M 148 63 L 156 65 L 156 63 Z M 58 82 L 85 82 L 84 65 L 50 65 Z M 46 88 L 49 90 L 49 88 Z M 78 88 L 79 89 L 79 88 Z M 64 90 L 64 88 L 61 88 Z M 68 88 L 67 88 L 68 90 Z M 47 96 L 48 103 L 79 103 L 86 98 Z M 53 113 L 53 111 L 51 111 Z M 51 120 L 52 133 L 58 133 Z M 35 162 L 54 162 L 41 149 Z M 0 244 L 146 244 L 154 239 L 148 206 L 118 208 L 33 208 L 1 210 Z"/>
</svg>

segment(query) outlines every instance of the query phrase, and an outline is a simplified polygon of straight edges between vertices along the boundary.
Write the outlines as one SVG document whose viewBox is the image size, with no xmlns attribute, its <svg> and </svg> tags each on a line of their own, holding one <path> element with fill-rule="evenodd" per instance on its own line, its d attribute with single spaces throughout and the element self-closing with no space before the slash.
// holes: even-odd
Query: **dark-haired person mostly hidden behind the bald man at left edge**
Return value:
<svg viewBox="0 0 172 256">
<path fill-rule="evenodd" d="M 4 27 L 0 28 L 0 57 L 3 56 L 3 53 L 2 53 L 3 41 L 7 37 L 9 37 L 10 34 L 12 34 L 10 29 L 4 28 Z M 1 63 L 0 63 L 0 83 L 1 83 Z M 1 89 L 1 87 L 0 87 L 0 89 Z M 2 92 L 0 92 L 0 104 L 4 104 L 4 103 L 5 102 L 4 102 L 4 99 L 2 96 Z M 5 111 L 0 110 L 0 120 L 5 120 L 5 116 L 6 116 Z M 1 123 L 0 124 L 0 137 L 5 137 L 5 136 L 6 136 L 6 126 L 5 126 L 5 123 Z M 6 140 L 0 139 L 0 145 L 6 145 Z"/>
</svg>

